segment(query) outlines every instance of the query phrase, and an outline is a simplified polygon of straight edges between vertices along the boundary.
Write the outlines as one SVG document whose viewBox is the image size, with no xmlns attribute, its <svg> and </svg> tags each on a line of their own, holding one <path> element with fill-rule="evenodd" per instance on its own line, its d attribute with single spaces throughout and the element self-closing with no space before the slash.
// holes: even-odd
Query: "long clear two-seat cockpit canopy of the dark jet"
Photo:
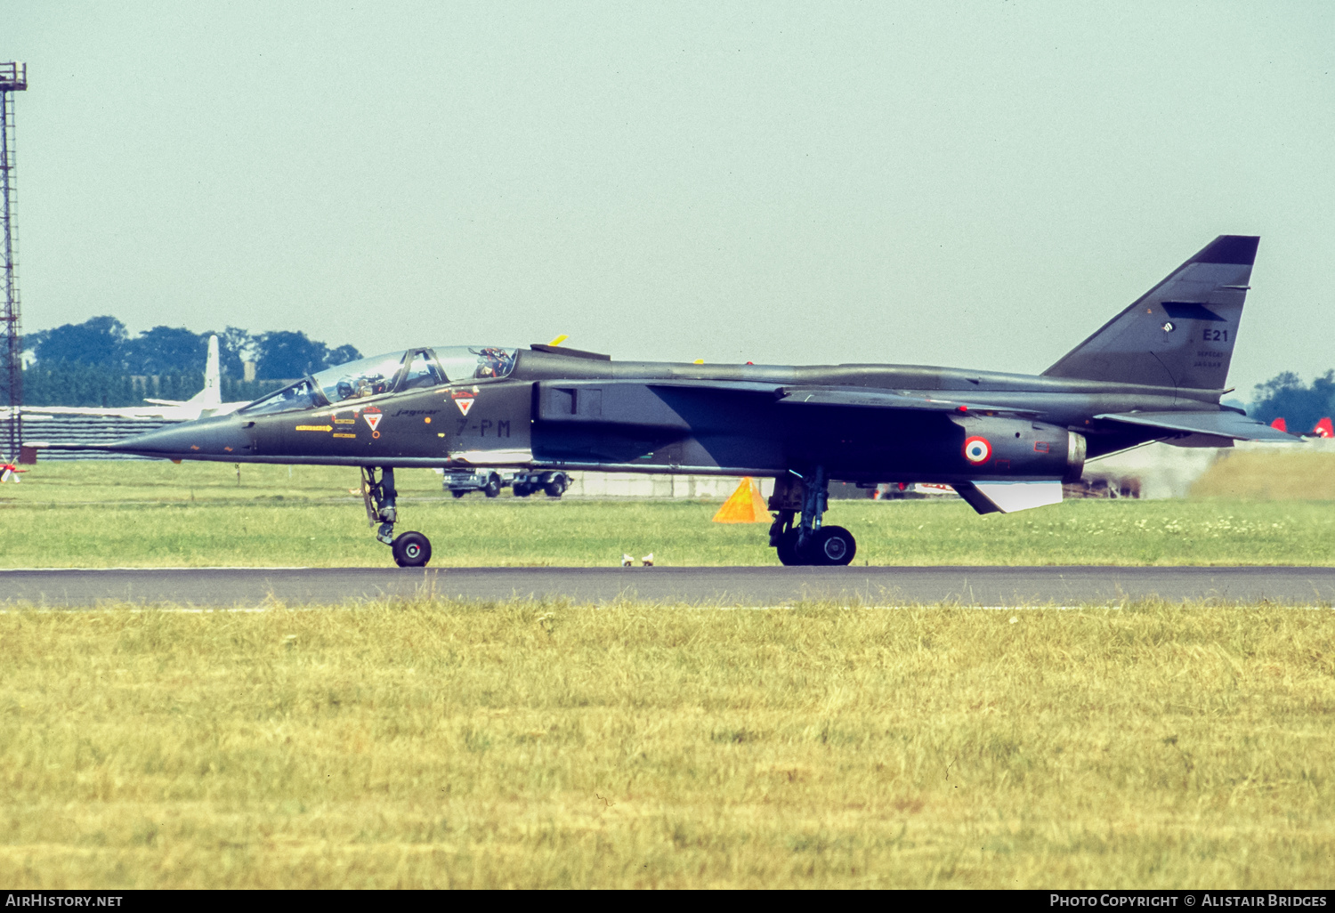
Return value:
<svg viewBox="0 0 1335 913">
<path fill-rule="evenodd" d="M 320 408 L 443 383 L 493 380 L 514 370 L 518 352 L 518 346 L 437 346 L 375 355 L 307 375 L 239 411 L 262 415 Z"/>
</svg>

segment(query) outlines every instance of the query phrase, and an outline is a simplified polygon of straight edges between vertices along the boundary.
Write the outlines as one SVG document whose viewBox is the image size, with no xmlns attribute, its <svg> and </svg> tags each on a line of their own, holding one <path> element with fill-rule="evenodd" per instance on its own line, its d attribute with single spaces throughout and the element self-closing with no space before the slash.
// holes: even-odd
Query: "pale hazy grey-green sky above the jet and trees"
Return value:
<svg viewBox="0 0 1335 913">
<path fill-rule="evenodd" d="M 1039 372 L 1258 234 L 1335 367 L 1335 3 L 17 3 L 24 326 Z"/>
</svg>

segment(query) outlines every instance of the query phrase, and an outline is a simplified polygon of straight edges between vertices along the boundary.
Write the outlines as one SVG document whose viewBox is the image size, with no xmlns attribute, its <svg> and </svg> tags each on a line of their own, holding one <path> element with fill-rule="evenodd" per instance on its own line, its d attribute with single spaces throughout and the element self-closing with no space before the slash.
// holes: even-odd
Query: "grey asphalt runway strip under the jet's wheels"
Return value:
<svg viewBox="0 0 1335 913">
<path fill-rule="evenodd" d="M 0 605 L 346 603 L 431 595 L 782 606 L 1119 605 L 1144 598 L 1331 606 L 1335 567 L 396 567 L 3 570 Z"/>
</svg>

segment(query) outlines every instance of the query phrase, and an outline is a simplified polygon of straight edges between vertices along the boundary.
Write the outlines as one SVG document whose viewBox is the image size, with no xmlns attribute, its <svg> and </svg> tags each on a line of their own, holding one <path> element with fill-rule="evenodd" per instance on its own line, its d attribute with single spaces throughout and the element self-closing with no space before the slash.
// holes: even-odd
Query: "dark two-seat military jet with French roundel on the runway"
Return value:
<svg viewBox="0 0 1335 913">
<path fill-rule="evenodd" d="M 400 566 L 394 470 L 519 467 L 773 477 L 785 565 L 846 565 L 832 479 L 944 483 L 979 513 L 1056 503 L 1087 459 L 1149 440 L 1296 440 L 1220 406 L 1256 238 L 1222 235 L 1041 375 L 902 364 L 614 362 L 550 344 L 421 347 L 332 367 L 250 403 L 84 450 L 360 467 Z"/>
</svg>

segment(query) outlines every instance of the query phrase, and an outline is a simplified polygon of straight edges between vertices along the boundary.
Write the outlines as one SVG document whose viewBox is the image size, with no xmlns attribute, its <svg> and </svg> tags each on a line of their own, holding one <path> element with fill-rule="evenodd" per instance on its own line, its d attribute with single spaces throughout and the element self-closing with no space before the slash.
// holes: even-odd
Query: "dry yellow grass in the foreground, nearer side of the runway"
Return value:
<svg viewBox="0 0 1335 913">
<path fill-rule="evenodd" d="M 12 888 L 1320 888 L 1335 613 L 0 614 Z"/>
</svg>

